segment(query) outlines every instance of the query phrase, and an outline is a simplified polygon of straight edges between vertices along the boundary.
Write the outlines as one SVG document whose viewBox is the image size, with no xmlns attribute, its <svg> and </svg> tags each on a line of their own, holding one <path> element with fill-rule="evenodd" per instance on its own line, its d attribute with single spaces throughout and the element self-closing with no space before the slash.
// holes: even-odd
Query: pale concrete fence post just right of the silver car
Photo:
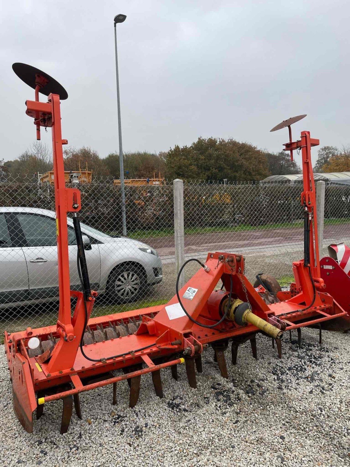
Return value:
<svg viewBox="0 0 350 467">
<path fill-rule="evenodd" d="M 174 190 L 175 272 L 177 276 L 185 262 L 184 182 L 177 178 L 172 184 Z M 184 285 L 185 277 L 182 273 L 179 279 L 179 289 Z"/>
</svg>

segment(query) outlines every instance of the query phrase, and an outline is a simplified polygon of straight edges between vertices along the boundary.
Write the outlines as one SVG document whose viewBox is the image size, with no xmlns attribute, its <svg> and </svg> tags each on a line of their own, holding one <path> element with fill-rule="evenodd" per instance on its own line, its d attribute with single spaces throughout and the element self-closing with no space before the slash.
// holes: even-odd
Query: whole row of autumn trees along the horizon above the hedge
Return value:
<svg viewBox="0 0 350 467">
<path fill-rule="evenodd" d="M 198 138 L 189 146 L 176 145 L 167 152 L 158 154 L 126 152 L 123 155 L 124 177 L 167 179 L 183 178 L 206 181 L 234 182 L 237 180 L 262 180 L 269 175 L 298 174 L 300 167 L 291 161 L 287 152 L 278 153 L 258 149 L 247 142 L 232 138 Z M 119 156 L 110 153 L 106 157 L 93 149 L 64 149 L 65 170 L 86 169 L 93 171 L 93 177 L 119 178 Z M 1 161 L 1 177 L 37 177 L 37 174 L 52 170 L 52 154 L 41 142 L 36 142 L 18 159 Z M 318 151 L 314 165 L 315 172 L 350 170 L 350 147 L 342 150 L 334 146 L 324 146 Z"/>
</svg>

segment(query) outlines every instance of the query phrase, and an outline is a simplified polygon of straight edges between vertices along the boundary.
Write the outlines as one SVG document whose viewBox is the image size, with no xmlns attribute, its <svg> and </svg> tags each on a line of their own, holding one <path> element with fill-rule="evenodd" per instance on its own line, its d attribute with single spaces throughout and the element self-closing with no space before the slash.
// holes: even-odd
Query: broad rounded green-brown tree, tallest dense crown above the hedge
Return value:
<svg viewBox="0 0 350 467">
<path fill-rule="evenodd" d="M 191 146 L 175 146 L 164 156 L 167 178 L 218 181 L 261 180 L 269 175 L 264 153 L 232 138 L 198 138 Z"/>
</svg>

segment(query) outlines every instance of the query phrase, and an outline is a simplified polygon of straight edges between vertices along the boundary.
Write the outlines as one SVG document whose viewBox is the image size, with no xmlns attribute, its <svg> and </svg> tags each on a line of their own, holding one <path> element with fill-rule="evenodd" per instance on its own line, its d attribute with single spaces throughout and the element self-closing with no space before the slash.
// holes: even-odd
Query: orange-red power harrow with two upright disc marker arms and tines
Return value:
<svg viewBox="0 0 350 467">
<path fill-rule="evenodd" d="M 5 332 L 5 350 L 13 385 L 14 412 L 27 432 L 33 431 L 33 413 L 43 413 L 44 404 L 63 400 L 61 433 L 68 430 L 73 402 L 81 415 L 79 394 L 101 386 L 113 385 L 116 403 L 117 383 L 127 380 L 130 407 L 135 406 L 141 377 L 148 373 L 157 396 L 163 396 L 160 371 L 171 368 L 177 379 L 177 365 L 186 365 L 188 382 L 196 388 L 196 371 L 201 373 L 201 354 L 214 350 L 221 375 L 228 378 L 224 351 L 232 342 L 232 361 L 237 349 L 250 340 L 257 358 L 256 334 L 262 333 L 277 343 L 281 357 L 281 336 L 286 330 L 304 326 L 323 326 L 335 319 L 349 328 L 349 288 L 336 287 L 343 269 L 329 258 L 319 261 L 315 211 L 315 187 L 311 166 L 311 147 L 319 141 L 303 131 L 285 149 L 301 150 L 304 188 L 301 204 L 305 211 L 304 258 L 293 263 L 295 282 L 281 291 L 271 276 L 258 275 L 256 287 L 244 275 L 244 257 L 223 252 L 208 253 L 199 271 L 166 305 L 91 318 L 96 292 L 91 290 L 86 268 L 78 212 L 80 192 L 67 188 L 64 179 L 60 100 L 68 97 L 53 78 L 26 64 L 14 64 L 15 73 L 35 89 L 35 100 L 26 101 L 26 113 L 34 118 L 37 138 L 40 127 L 51 127 L 54 158 L 54 185 L 57 214 L 57 253 L 59 311 L 57 324 L 38 329 L 28 327 L 16 333 Z M 48 96 L 39 101 L 39 92 Z M 275 129 L 289 127 L 300 117 L 289 119 Z M 67 212 L 72 213 L 77 238 L 77 268 L 82 290 L 70 290 Z M 326 263 L 324 263 L 326 261 Z M 323 266 L 323 267 L 322 267 Z M 332 269 L 329 269 L 329 267 Z M 327 272 L 324 275 L 324 272 Z M 329 274 L 328 274 L 329 273 Z M 327 275 L 328 274 L 328 275 Z M 216 290 L 219 282 L 221 290 Z M 349 283 L 349 282 L 348 282 Z M 333 284 L 333 285 L 329 285 Z M 331 293 L 330 293 L 331 290 Z M 344 297 L 346 299 L 344 299 Z M 71 299 L 75 309 L 71 310 Z M 300 339 L 299 339 L 300 342 Z M 115 373 L 116 370 L 121 372 Z"/>
</svg>

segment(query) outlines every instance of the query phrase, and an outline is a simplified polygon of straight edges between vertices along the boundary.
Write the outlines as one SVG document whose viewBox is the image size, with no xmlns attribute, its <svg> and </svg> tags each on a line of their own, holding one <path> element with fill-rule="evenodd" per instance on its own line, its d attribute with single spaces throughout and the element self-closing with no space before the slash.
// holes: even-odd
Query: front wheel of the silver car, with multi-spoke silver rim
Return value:
<svg viewBox="0 0 350 467">
<path fill-rule="evenodd" d="M 125 264 L 112 271 L 108 280 L 107 292 L 118 303 L 129 303 L 140 298 L 145 285 L 142 267 L 135 264 Z"/>
</svg>

